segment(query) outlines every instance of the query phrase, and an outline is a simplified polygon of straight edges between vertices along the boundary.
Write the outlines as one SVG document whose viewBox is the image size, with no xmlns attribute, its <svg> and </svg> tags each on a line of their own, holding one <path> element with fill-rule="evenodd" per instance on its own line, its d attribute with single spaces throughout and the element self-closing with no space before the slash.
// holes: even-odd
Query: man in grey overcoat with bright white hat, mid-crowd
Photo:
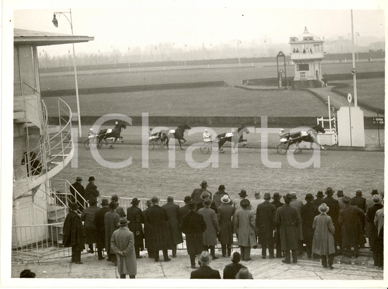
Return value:
<svg viewBox="0 0 388 289">
<path fill-rule="evenodd" d="M 219 241 L 221 243 L 222 256 L 226 257 L 226 254 L 230 256 L 232 253 L 233 244 L 233 223 L 232 218 L 234 214 L 234 208 L 230 205 L 230 198 L 225 194 L 221 198 L 221 206 L 217 210 L 217 220 L 220 224 Z"/>
</svg>

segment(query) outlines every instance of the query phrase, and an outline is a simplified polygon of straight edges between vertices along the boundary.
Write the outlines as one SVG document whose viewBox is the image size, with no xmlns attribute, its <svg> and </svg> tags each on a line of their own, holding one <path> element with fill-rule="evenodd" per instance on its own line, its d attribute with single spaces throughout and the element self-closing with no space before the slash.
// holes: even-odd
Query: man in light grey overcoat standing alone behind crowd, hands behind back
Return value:
<svg viewBox="0 0 388 289">
<path fill-rule="evenodd" d="M 120 217 L 117 223 L 118 230 L 114 231 L 110 240 L 110 246 L 117 258 L 117 271 L 120 279 L 125 279 L 129 275 L 130 279 L 135 279 L 137 273 L 136 254 L 134 250 L 135 237 L 128 230 L 129 221 L 126 217 Z"/>
</svg>

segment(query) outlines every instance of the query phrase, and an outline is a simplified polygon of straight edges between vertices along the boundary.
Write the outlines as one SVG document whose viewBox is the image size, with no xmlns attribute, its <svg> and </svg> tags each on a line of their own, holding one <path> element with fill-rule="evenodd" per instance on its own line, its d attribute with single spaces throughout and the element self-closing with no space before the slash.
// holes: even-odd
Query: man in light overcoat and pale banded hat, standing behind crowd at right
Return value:
<svg viewBox="0 0 388 289">
<path fill-rule="evenodd" d="M 331 217 L 327 215 L 329 207 L 322 203 L 318 210 L 321 214 L 314 217 L 312 223 L 312 228 L 314 229 L 312 252 L 321 255 L 321 262 L 324 268 L 327 268 L 329 264 L 329 269 L 334 269 L 334 226 Z M 327 257 L 329 260 L 327 260 Z"/>
</svg>

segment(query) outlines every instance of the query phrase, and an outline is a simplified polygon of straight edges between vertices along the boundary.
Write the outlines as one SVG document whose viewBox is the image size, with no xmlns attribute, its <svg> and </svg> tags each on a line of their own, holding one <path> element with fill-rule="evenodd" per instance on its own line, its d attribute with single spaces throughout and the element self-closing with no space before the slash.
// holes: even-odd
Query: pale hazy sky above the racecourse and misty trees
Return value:
<svg viewBox="0 0 388 289">
<path fill-rule="evenodd" d="M 134 5 L 122 5 L 120 8 L 106 7 L 100 2 L 85 7 L 71 1 L 61 2 L 57 8 L 44 1 L 34 1 L 34 8 L 50 9 L 31 10 L 31 4 L 15 5 L 13 13 L 14 27 L 37 31 L 71 34 L 70 25 L 64 16 L 57 16 L 59 27 L 52 24 L 55 11 L 72 10 L 72 22 L 75 35 L 94 36 L 94 41 L 77 44 L 78 52 L 96 53 L 98 50 L 109 51 L 118 48 L 122 51 L 128 47 L 144 47 L 159 42 L 174 42 L 174 47 L 197 48 L 204 43 L 215 46 L 220 43 L 241 41 L 241 46 L 257 41 L 287 42 L 289 36 L 303 33 L 304 27 L 310 33 L 325 38 L 348 36 L 351 32 L 351 14 L 353 8 L 354 31 L 362 36 L 384 36 L 384 10 L 355 9 L 357 7 L 385 8 L 379 1 L 369 1 L 369 5 L 357 6 L 357 2 L 332 2 L 327 0 L 299 2 L 290 6 L 289 2 L 277 2 L 280 7 L 294 8 L 325 8 L 325 9 L 279 9 L 265 8 L 251 1 L 234 2 L 179 2 L 179 1 L 134 1 Z M 40 5 L 38 5 L 40 3 Z M 131 2 L 132 3 L 132 2 Z M 161 3 L 168 5 L 161 5 Z M 186 5 L 178 4 L 186 3 Z M 191 5 L 187 4 L 191 3 Z M 210 5 L 209 3 L 214 3 Z M 221 6 L 220 3 L 225 5 Z M 230 3 L 230 4 L 228 4 Z M 302 3 L 302 4 L 301 4 Z M 308 5 L 303 5 L 308 3 Z M 312 5 L 317 3 L 317 5 Z M 333 3 L 337 3 L 333 6 Z M 343 5 L 339 5 L 343 3 Z M 346 4 L 351 3 L 351 4 Z M 363 2 L 362 2 L 363 3 Z M 381 2 L 384 3 L 384 2 Z M 144 5 L 141 5 L 144 4 Z M 147 4 L 147 5 L 146 5 Z M 267 3 L 267 6 L 271 4 Z M 325 4 L 325 5 L 321 5 Z M 105 7 L 104 7 L 105 6 Z M 86 6 L 88 7 L 88 6 Z M 261 8 L 264 7 L 264 8 Z M 330 7 L 343 9 L 328 9 Z M 19 8 L 28 8 L 18 10 Z M 347 9 L 344 9 L 347 8 Z M 69 16 L 69 14 L 66 14 Z M 60 46 L 52 47 L 51 51 L 62 51 Z M 61 53 L 61 54 L 62 54 Z"/>
</svg>

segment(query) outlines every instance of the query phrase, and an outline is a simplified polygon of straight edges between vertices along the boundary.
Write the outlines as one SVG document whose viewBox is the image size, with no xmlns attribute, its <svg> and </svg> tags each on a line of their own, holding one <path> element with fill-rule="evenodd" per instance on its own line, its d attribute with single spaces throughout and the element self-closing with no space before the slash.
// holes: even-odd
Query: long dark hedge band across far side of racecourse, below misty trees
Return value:
<svg viewBox="0 0 388 289">
<path fill-rule="evenodd" d="M 370 51 L 358 53 L 358 59 L 381 59 L 385 58 L 385 51 Z M 352 59 L 351 53 L 343 54 L 325 54 L 324 60 L 326 61 L 348 61 Z M 281 59 L 282 60 L 282 59 Z M 285 57 L 286 62 L 290 62 L 290 56 Z M 273 57 L 248 57 L 240 58 L 242 64 L 249 63 L 276 63 L 276 56 Z M 131 62 L 130 67 L 133 69 L 148 69 L 153 67 L 169 67 L 169 66 L 196 66 L 196 65 L 227 65 L 238 64 L 238 58 L 223 58 L 223 59 L 202 59 L 202 60 L 186 60 L 186 61 L 153 61 L 153 62 Z M 44 68 L 40 67 L 41 73 L 53 73 L 53 72 L 68 72 L 72 70 L 72 67 L 62 66 L 56 68 Z M 77 65 L 78 71 L 90 71 L 90 70 L 109 70 L 109 69 L 128 69 L 128 62 L 118 62 L 110 64 L 97 64 L 97 65 Z"/>
</svg>

